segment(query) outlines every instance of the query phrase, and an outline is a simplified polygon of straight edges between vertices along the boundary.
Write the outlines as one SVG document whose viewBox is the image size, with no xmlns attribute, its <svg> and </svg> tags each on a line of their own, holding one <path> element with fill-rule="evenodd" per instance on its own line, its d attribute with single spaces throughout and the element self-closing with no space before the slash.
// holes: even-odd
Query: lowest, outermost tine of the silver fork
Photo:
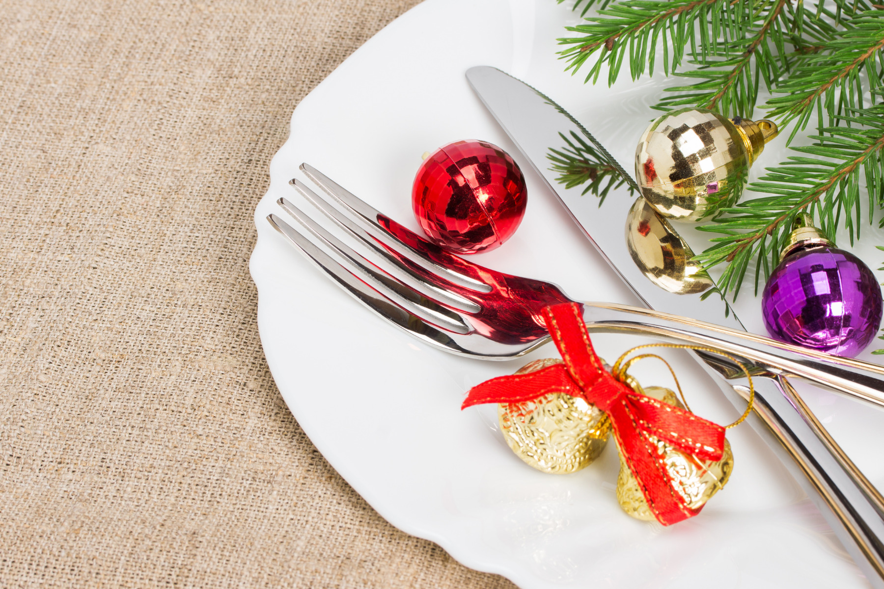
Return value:
<svg viewBox="0 0 884 589">
<path fill-rule="evenodd" d="M 289 244 L 293 245 L 304 257 L 311 261 L 316 268 L 322 270 L 344 291 L 347 291 L 350 296 L 368 307 L 370 311 L 380 315 L 382 319 L 390 321 L 393 325 L 408 333 L 409 336 L 414 336 L 441 350 L 464 356 L 475 356 L 474 352 L 464 350 L 445 331 L 423 321 L 414 313 L 403 309 L 390 298 L 385 297 L 384 294 L 364 283 L 361 278 L 354 276 L 347 268 L 344 268 L 339 262 L 332 259 L 330 255 L 277 215 L 267 215 L 267 221 L 286 238 Z"/>
</svg>

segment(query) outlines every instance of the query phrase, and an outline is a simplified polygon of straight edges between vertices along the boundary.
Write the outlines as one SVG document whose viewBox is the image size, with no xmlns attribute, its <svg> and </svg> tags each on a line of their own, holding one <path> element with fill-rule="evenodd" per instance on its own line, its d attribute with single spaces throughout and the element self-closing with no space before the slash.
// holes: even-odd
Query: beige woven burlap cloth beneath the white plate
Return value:
<svg viewBox="0 0 884 589">
<path fill-rule="evenodd" d="M 341 480 L 255 322 L 291 112 L 413 4 L 0 0 L 0 586 L 513 586 Z"/>
</svg>

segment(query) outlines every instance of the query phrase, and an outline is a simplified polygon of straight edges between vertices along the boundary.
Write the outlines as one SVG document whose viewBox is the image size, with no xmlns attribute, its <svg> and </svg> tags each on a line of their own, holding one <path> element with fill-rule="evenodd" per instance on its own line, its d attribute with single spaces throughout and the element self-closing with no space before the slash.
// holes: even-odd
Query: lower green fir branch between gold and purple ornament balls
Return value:
<svg viewBox="0 0 884 589">
<path fill-rule="evenodd" d="M 768 168 L 766 176 L 749 186 L 771 196 L 724 208 L 722 214 L 733 216 L 718 217 L 713 224 L 697 228 L 723 236 L 713 238 L 714 245 L 696 256 L 705 268 L 728 262 L 719 279 L 721 291 L 733 291 L 736 296 L 751 261 L 758 258 L 757 294 L 762 268 L 765 278 L 770 276 L 792 222 L 802 211 L 815 214 L 820 230 L 829 236 L 843 223 L 850 230 L 852 243 L 854 234 L 859 235 L 863 176 L 870 210 L 884 204 L 884 105 L 848 109 L 848 114 L 836 116 L 834 123 L 820 129 L 811 146 L 793 147 L 814 157 L 789 156 L 788 162 Z"/>
</svg>

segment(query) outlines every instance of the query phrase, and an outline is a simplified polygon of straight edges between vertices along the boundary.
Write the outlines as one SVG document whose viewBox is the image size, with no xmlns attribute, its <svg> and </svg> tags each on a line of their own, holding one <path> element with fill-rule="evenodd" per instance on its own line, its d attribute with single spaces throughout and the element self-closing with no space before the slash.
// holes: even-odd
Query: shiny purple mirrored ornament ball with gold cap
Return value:
<svg viewBox="0 0 884 589">
<path fill-rule="evenodd" d="M 761 297 L 773 339 L 839 356 L 856 356 L 878 332 L 881 291 L 852 253 L 819 245 L 791 253 Z"/>
</svg>

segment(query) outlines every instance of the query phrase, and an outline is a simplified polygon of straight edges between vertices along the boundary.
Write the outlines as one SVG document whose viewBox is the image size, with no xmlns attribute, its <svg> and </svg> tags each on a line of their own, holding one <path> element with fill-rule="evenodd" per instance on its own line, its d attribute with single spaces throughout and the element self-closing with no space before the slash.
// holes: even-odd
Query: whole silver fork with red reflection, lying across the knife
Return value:
<svg viewBox="0 0 884 589">
<path fill-rule="evenodd" d="M 301 164 L 301 170 L 331 199 L 321 198 L 298 179 L 290 184 L 353 238 L 364 255 L 286 199 L 278 200 L 280 207 L 322 246 L 278 215 L 268 215 L 268 221 L 341 288 L 410 336 L 461 356 L 512 359 L 549 341 L 541 315 L 544 306 L 574 301 L 555 284 L 504 274 L 446 253 L 312 166 Z M 580 304 L 591 331 L 644 334 L 714 348 L 743 359 L 755 374 L 804 378 L 884 406 L 881 366 L 650 309 Z M 726 378 L 742 375 L 729 359 L 718 357 L 716 364 Z"/>
</svg>

